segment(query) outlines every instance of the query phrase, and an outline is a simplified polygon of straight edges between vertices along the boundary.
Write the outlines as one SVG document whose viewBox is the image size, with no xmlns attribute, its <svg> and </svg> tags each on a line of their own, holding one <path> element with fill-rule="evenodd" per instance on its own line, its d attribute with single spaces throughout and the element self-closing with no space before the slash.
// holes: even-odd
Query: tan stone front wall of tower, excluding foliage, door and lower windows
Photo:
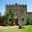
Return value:
<svg viewBox="0 0 32 32">
<path fill-rule="evenodd" d="M 19 4 L 15 4 L 15 5 L 6 5 L 6 14 L 8 15 L 7 19 L 9 19 L 9 15 L 11 15 L 11 12 L 13 12 L 14 14 L 14 19 L 18 18 L 18 23 L 21 22 L 21 19 L 24 18 L 24 24 L 26 23 L 26 12 L 27 12 L 27 5 L 19 5 Z M 16 18 L 15 18 L 16 17 Z M 20 20 L 20 21 L 19 21 Z M 22 24 L 22 23 L 21 23 Z"/>
</svg>

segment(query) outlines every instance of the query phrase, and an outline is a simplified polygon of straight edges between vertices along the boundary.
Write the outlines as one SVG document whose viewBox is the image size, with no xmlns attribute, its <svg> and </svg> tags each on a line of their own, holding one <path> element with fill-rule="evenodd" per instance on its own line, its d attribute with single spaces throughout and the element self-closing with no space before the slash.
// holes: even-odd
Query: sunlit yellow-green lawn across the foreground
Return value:
<svg viewBox="0 0 32 32">
<path fill-rule="evenodd" d="M 8 29 L 0 29 L 0 32 L 32 32 L 32 25 L 24 26 L 25 28 L 8 28 Z"/>
</svg>

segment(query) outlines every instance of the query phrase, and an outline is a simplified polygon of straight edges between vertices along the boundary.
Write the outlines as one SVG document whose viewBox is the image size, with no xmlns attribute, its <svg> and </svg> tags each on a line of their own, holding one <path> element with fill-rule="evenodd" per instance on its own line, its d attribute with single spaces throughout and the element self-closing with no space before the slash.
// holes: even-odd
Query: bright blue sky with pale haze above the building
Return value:
<svg viewBox="0 0 32 32">
<path fill-rule="evenodd" d="M 6 4 L 27 4 L 27 12 L 32 12 L 32 0 L 0 0 L 0 12 L 3 14 L 5 11 Z"/>
</svg>

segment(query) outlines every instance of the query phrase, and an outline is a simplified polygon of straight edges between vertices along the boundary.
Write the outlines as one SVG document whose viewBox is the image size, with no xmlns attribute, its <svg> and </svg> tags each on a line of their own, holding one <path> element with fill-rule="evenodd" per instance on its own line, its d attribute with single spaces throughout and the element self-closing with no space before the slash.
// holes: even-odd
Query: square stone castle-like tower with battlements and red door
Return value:
<svg viewBox="0 0 32 32">
<path fill-rule="evenodd" d="M 27 5 L 20 5 L 20 4 L 15 4 L 15 5 L 6 5 L 6 15 L 7 19 L 6 21 L 11 23 L 11 15 L 12 15 L 12 21 L 14 25 L 19 25 L 19 24 L 26 24 L 27 20 Z"/>
</svg>

